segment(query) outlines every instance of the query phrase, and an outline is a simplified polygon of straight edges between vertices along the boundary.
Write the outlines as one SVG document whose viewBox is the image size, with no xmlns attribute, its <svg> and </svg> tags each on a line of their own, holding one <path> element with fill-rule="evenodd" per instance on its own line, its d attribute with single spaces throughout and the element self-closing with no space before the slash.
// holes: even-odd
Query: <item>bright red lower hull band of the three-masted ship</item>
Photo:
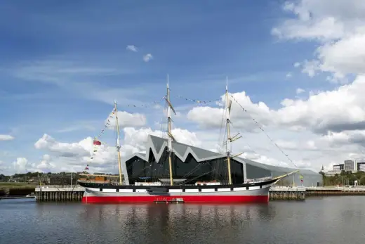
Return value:
<svg viewBox="0 0 365 244">
<path fill-rule="evenodd" d="M 82 203 L 154 203 L 174 201 L 176 196 L 84 196 Z M 268 195 L 185 195 L 184 203 L 267 203 Z"/>
</svg>

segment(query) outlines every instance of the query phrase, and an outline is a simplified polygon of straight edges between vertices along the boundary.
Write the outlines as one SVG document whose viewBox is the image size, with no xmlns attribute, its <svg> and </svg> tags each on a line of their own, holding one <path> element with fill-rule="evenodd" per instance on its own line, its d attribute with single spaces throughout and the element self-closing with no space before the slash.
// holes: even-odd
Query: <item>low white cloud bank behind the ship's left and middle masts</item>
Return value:
<svg viewBox="0 0 365 244">
<path fill-rule="evenodd" d="M 121 158 L 122 160 L 133 153 L 145 153 L 145 143 L 148 134 L 162 136 L 166 138 L 164 131 L 152 130 L 150 128 L 135 129 L 126 127 L 121 131 Z M 181 143 L 192 146 L 201 146 L 201 141 L 197 135 L 186 129 L 175 128 L 172 130 L 175 139 Z M 42 172 L 60 171 L 81 171 L 88 164 L 94 172 L 116 172 L 117 170 L 117 150 L 114 143 L 106 143 L 101 139 L 102 145 L 97 152 L 93 152 L 93 139 L 87 137 L 78 142 L 60 142 L 52 136 L 44 134 L 34 144 L 36 149 L 45 150 L 48 154 L 44 155 L 39 164 L 30 165 L 27 159 L 19 158 L 14 170 L 25 172 L 27 169 Z M 93 159 L 91 155 L 95 153 Z M 51 158 L 52 157 L 52 158 Z"/>
</svg>

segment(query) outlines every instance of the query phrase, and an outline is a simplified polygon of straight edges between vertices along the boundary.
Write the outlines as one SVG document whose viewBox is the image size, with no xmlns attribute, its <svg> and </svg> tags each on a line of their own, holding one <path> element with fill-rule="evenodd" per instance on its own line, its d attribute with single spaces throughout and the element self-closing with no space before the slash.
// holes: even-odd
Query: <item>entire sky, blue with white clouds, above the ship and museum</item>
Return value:
<svg viewBox="0 0 365 244">
<path fill-rule="evenodd" d="M 365 158 L 364 11 L 362 0 L 3 1 L 0 174 L 116 172 L 114 117 L 91 160 L 93 138 L 114 101 L 122 159 L 166 137 L 167 76 L 182 143 L 220 151 L 227 80 L 241 157 L 316 172 Z"/>
</svg>

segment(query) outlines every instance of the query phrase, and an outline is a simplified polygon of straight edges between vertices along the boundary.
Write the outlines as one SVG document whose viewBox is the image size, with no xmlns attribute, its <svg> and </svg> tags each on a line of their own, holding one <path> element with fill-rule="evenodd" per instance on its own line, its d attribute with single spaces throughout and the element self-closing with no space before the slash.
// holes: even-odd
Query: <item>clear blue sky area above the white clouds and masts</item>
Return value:
<svg viewBox="0 0 365 244">
<path fill-rule="evenodd" d="M 95 136 L 114 99 L 127 112 L 165 94 L 213 100 L 246 91 L 253 102 L 279 108 L 298 87 L 332 89 L 325 76 L 293 67 L 318 44 L 281 41 L 272 27 L 288 18 L 284 1 L 4 1 L 0 5 L 0 157 L 39 160 L 34 143 Z M 138 52 L 126 46 L 134 45 Z M 151 53 L 149 62 L 143 56 Z M 291 73 L 291 77 L 287 74 Z M 186 102 L 172 98 L 175 107 Z M 191 104 L 190 104 L 191 105 Z M 185 129 L 195 125 L 176 122 Z M 179 124 L 180 123 L 180 124 Z M 71 128 L 71 129 L 70 129 Z M 95 130 L 93 130 L 95 128 Z M 69 130 L 69 131 L 67 131 Z"/>
</svg>

